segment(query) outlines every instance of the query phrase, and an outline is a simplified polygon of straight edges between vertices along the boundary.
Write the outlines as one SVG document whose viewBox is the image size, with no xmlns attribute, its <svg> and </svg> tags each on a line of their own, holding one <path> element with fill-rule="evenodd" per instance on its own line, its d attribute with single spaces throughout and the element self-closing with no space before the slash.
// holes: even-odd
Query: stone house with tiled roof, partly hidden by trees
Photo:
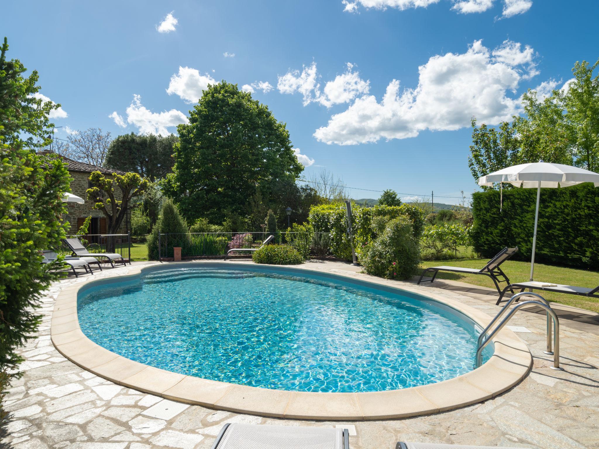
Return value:
<svg viewBox="0 0 599 449">
<path fill-rule="evenodd" d="M 88 233 L 94 234 L 105 234 L 107 232 L 106 217 L 104 213 L 99 210 L 95 210 L 93 202 L 87 199 L 87 189 L 92 187 L 89 181 L 89 175 L 92 171 L 99 171 L 105 175 L 111 175 L 113 173 L 123 175 L 125 172 L 115 169 L 109 169 L 105 167 L 99 167 L 97 165 L 91 165 L 85 162 L 78 162 L 77 160 L 69 159 L 65 156 L 60 156 L 63 162 L 68 164 L 68 171 L 71 175 L 71 193 L 77 195 L 85 200 L 85 204 L 66 203 L 66 210 L 68 211 L 66 217 L 63 217 L 71 225 L 71 229 L 68 233 L 74 234 L 83 225 L 84 220 L 87 217 L 92 217 L 92 221 L 89 226 Z M 121 199 L 120 190 L 114 191 L 114 196 L 117 200 Z M 129 210 L 125 216 L 125 219 L 121 223 L 119 233 L 126 234 L 131 229 L 131 211 Z M 93 241 L 95 239 L 90 239 Z"/>
</svg>

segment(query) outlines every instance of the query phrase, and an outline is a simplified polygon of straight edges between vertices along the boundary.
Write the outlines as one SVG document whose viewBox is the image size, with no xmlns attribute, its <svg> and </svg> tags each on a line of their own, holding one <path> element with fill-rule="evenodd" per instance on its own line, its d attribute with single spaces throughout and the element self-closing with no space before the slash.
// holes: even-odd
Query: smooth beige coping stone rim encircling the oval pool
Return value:
<svg viewBox="0 0 599 449">
<path fill-rule="evenodd" d="M 533 359 L 527 345 L 514 332 L 501 329 L 493 339 L 494 354 L 477 369 L 458 377 L 400 390 L 370 393 L 317 393 L 271 390 L 213 381 L 126 359 L 95 344 L 81 331 L 77 318 L 77 294 L 89 284 L 111 284 L 139 277 L 159 267 L 190 265 L 245 268 L 253 263 L 218 260 L 149 263 L 131 266 L 126 275 L 81 280 L 60 291 L 52 315 L 50 335 L 56 349 L 71 362 L 113 383 L 186 404 L 267 417 L 308 420 L 381 420 L 433 414 L 483 402 L 511 389 L 528 374 Z M 384 291 L 425 296 L 470 318 L 483 329 L 489 315 L 466 304 L 437 295 L 430 288 L 370 275 L 338 270 L 320 271 L 306 266 L 261 266 L 285 272 L 311 272 L 354 284 L 370 284 Z M 401 292 L 398 292 L 401 293 Z"/>
</svg>

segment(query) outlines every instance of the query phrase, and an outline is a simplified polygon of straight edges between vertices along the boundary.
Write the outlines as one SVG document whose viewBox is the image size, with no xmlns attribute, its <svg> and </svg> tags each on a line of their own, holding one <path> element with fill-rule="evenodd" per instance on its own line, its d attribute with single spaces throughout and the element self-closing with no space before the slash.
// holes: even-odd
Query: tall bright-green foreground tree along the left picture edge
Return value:
<svg viewBox="0 0 599 449">
<path fill-rule="evenodd" d="M 56 156 L 34 149 L 47 144 L 54 105 L 35 98 L 38 73 L 25 76 L 18 59 L 0 53 L 0 390 L 7 371 L 18 368 L 16 348 L 40 324 L 35 313 L 41 293 L 58 275 L 41 261 L 42 250 L 58 248 L 67 225 L 62 195 L 69 174 Z"/>
</svg>

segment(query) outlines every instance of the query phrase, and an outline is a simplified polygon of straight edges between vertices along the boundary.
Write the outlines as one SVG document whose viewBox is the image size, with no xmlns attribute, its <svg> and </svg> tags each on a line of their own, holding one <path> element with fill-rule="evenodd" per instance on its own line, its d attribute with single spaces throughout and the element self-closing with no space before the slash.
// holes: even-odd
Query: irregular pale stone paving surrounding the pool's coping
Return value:
<svg viewBox="0 0 599 449">
<path fill-rule="evenodd" d="M 315 269 L 355 271 L 338 263 Z M 95 277 L 126 274 L 128 267 L 105 269 Z M 60 289 L 83 278 L 54 284 L 43 299 L 44 323 L 35 339 L 20 351 L 23 377 L 8 390 L 10 412 L 5 447 L 16 449 L 150 449 L 210 448 L 225 423 L 335 426 L 338 422 L 292 421 L 241 415 L 178 404 L 147 395 L 84 371 L 62 357 L 50 341 L 50 318 Z M 401 284 L 401 283 L 398 283 Z M 423 293 L 434 286 L 422 286 Z M 488 301 L 436 289 L 489 315 L 498 307 Z M 388 421 L 355 421 L 350 447 L 394 448 L 395 442 L 444 442 L 527 448 L 599 448 L 599 336 L 561 321 L 561 363 L 549 369 L 543 354 L 545 318 L 519 313 L 514 326 L 534 356 L 534 367 L 521 384 L 482 404 L 423 417 Z"/>
</svg>

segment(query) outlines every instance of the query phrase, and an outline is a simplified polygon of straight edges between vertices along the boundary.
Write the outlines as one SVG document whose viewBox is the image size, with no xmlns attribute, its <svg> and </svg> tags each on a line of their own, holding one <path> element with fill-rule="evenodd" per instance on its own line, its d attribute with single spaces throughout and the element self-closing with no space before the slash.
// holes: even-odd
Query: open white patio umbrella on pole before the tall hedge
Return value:
<svg viewBox="0 0 599 449">
<path fill-rule="evenodd" d="M 537 223 L 539 222 L 539 199 L 541 187 L 570 187 L 582 183 L 594 183 L 599 187 L 599 174 L 583 168 L 548 163 L 540 160 L 503 168 L 479 178 L 479 186 L 492 186 L 494 183 L 507 183 L 525 189 L 537 189 L 537 208 L 534 214 L 533 257 L 530 261 L 530 280 L 534 273 L 534 252 L 537 247 Z"/>
</svg>

